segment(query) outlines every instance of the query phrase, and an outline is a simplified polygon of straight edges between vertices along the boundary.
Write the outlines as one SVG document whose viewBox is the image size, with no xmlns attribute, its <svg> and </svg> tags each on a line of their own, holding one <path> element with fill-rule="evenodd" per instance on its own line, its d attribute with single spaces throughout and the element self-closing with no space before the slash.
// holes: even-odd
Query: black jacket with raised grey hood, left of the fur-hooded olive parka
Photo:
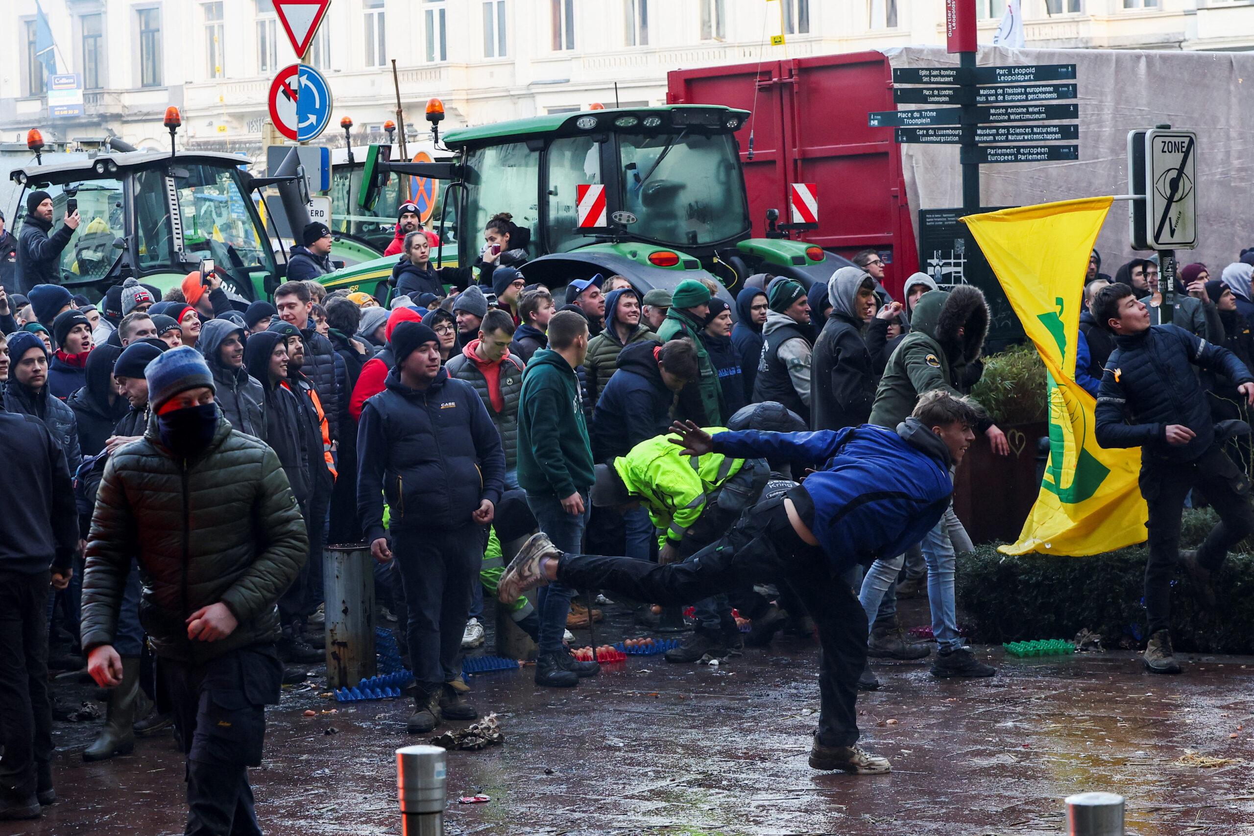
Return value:
<svg viewBox="0 0 1254 836">
<path fill-rule="evenodd" d="M 875 372 L 863 340 L 867 322 L 858 292 L 874 280 L 860 267 L 841 267 L 828 281 L 831 317 L 814 343 L 810 367 L 810 427 L 839 430 L 865 424 L 875 401 Z M 883 321 L 883 320 L 882 320 Z"/>
</svg>

